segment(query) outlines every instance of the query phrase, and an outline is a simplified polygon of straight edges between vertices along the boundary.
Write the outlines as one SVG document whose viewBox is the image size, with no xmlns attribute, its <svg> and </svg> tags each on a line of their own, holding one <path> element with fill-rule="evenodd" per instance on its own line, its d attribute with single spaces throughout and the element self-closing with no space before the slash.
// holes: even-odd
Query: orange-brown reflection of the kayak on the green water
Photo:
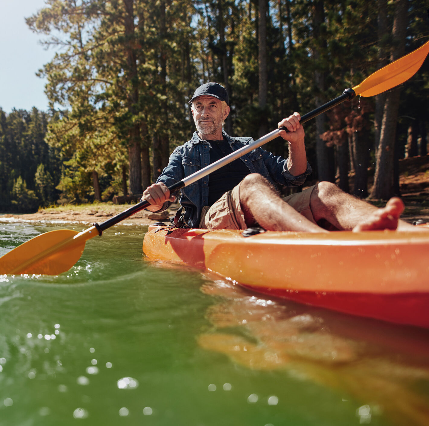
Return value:
<svg viewBox="0 0 429 426">
<path fill-rule="evenodd" d="M 372 413 L 397 425 L 429 424 L 426 330 L 264 299 L 225 281 L 202 291 L 227 299 L 208 308 L 216 329 L 199 335 L 202 348 L 252 370 L 286 371 L 332 388 L 343 401 L 362 404 L 360 423 Z"/>
</svg>

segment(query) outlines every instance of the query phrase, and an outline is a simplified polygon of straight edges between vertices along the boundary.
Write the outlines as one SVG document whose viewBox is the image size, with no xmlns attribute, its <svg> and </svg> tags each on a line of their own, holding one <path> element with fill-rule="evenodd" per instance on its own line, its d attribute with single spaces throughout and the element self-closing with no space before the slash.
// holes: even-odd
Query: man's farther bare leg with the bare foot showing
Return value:
<svg viewBox="0 0 429 426">
<path fill-rule="evenodd" d="M 338 229 L 364 231 L 398 229 L 416 231 L 416 227 L 399 220 L 404 203 L 398 197 L 378 209 L 363 200 L 341 191 L 330 182 L 319 182 L 311 193 L 310 208 L 316 222 L 326 219 Z"/>
</svg>

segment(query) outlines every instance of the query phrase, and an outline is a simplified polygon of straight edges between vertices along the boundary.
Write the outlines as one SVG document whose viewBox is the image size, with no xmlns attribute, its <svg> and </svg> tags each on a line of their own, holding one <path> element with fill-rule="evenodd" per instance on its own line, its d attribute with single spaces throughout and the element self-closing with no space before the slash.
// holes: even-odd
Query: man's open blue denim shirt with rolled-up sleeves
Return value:
<svg viewBox="0 0 429 426">
<path fill-rule="evenodd" d="M 224 131 L 222 131 L 222 134 L 233 151 L 253 142 L 251 137 L 231 137 Z M 178 146 L 172 152 L 168 166 L 160 174 L 157 182 L 163 182 L 165 185 L 170 186 L 208 166 L 210 163 L 208 151 L 208 143 L 205 140 L 201 140 L 198 133 L 194 132 L 190 141 Z M 307 162 L 305 173 L 299 176 L 292 176 L 287 170 L 287 160 L 278 155 L 272 155 L 271 152 L 264 151 L 260 147 L 240 158 L 248 167 L 250 173 L 259 173 L 275 187 L 302 185 L 306 176 L 311 173 L 311 166 Z M 199 226 L 201 210 L 204 206 L 207 206 L 208 179 L 210 179 L 210 176 L 205 176 L 181 189 L 180 204 L 190 214 L 188 224 L 193 228 Z M 157 212 L 167 209 L 170 204 L 170 202 L 164 203 Z"/>
</svg>

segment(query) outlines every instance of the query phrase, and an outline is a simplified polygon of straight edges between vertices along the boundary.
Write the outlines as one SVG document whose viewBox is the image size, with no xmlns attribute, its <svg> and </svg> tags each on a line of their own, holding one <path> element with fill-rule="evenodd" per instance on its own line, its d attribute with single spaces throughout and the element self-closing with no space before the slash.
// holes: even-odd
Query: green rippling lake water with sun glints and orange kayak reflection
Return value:
<svg viewBox="0 0 429 426">
<path fill-rule="evenodd" d="M 58 228 L 0 223 L 0 255 Z M 0 275 L 1 426 L 429 425 L 428 331 L 149 262 L 145 230 Z"/>
</svg>

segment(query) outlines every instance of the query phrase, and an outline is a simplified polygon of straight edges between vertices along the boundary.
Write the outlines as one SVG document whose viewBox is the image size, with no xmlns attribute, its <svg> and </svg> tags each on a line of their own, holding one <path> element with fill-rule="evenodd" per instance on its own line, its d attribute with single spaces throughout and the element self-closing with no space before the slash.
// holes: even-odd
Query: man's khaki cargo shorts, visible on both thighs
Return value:
<svg viewBox="0 0 429 426">
<path fill-rule="evenodd" d="M 284 197 L 290 206 L 313 223 L 310 209 L 310 196 L 314 186 L 302 192 Z M 213 206 L 202 208 L 199 227 L 202 229 L 246 229 L 244 213 L 240 204 L 240 184 L 226 192 Z"/>
</svg>

